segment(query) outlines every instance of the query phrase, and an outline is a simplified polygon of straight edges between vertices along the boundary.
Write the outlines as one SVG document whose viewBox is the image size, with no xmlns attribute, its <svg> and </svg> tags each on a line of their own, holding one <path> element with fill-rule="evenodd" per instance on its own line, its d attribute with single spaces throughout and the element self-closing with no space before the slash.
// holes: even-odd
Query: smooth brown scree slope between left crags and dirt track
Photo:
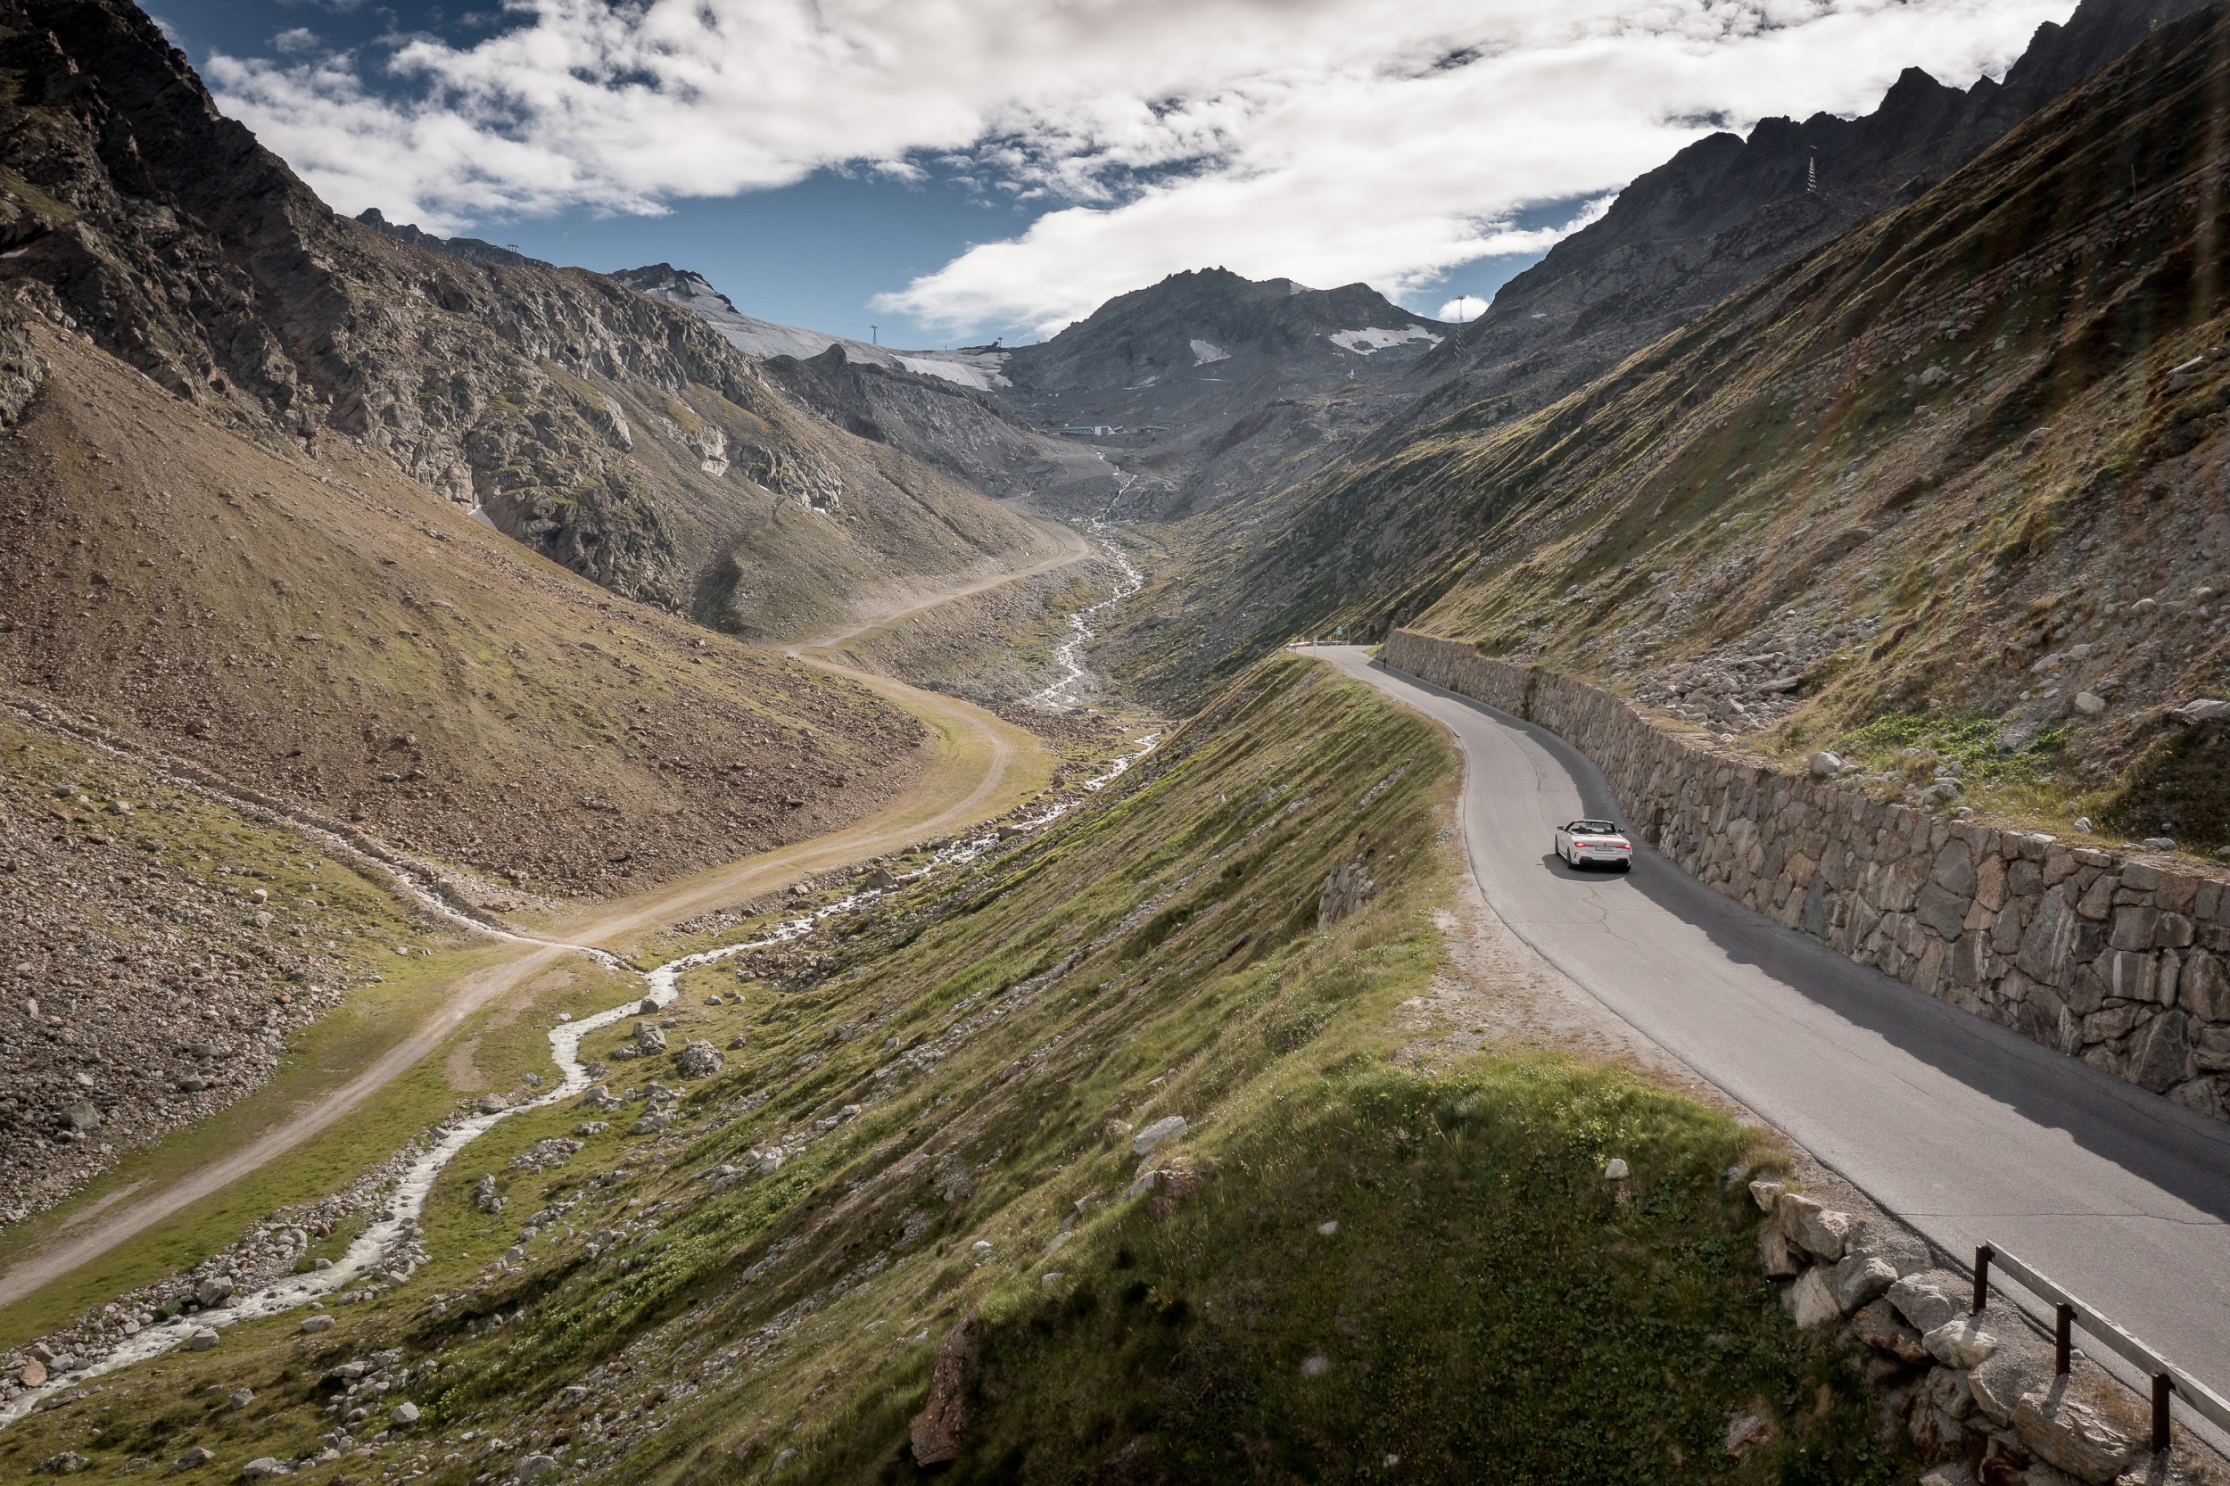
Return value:
<svg viewBox="0 0 2230 1486">
<path fill-rule="evenodd" d="M 917 768 L 919 723 L 850 681 L 611 600 L 372 457 L 306 462 L 36 335 L 56 370 L 0 442 L 13 685 L 558 890 L 823 834 Z"/>
</svg>

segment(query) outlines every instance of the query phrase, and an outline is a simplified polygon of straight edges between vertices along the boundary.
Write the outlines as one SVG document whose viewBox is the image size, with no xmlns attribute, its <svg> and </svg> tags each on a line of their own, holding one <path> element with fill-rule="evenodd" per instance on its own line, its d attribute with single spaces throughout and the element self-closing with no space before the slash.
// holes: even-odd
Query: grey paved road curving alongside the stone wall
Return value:
<svg viewBox="0 0 2230 1486">
<path fill-rule="evenodd" d="M 1639 841 L 1623 877 L 1563 866 L 1559 823 L 1617 814 L 1579 750 L 1367 649 L 1302 654 L 1454 734 L 1478 890 L 1559 971 L 1945 1252 L 1996 1243 L 2230 1395 L 2230 1127 L 1844 959 Z"/>
</svg>

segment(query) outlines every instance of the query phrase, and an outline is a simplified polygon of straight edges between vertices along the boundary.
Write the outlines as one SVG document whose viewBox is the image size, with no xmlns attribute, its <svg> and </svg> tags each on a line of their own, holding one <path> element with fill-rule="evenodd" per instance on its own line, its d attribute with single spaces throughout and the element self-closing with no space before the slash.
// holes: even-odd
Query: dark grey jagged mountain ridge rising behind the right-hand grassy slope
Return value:
<svg viewBox="0 0 2230 1486">
<path fill-rule="evenodd" d="M 1771 118 L 1746 141 L 1717 134 L 1644 174 L 1601 221 L 1503 286 L 1481 319 L 1378 388 L 1367 426 L 1336 428 L 1338 442 L 1313 460 L 1267 464 L 1222 506 L 1171 531 L 1202 571 L 1173 565 L 1135 605 L 1128 676 L 1177 696 L 1211 667 L 1244 665 L 1289 634 L 1383 623 L 1385 614 L 1342 605 L 1356 585 L 1392 591 L 1416 573 L 1367 576 L 1369 560 L 1334 551 L 1385 542 L 1383 567 L 1403 567 L 1400 533 L 1412 518 L 1400 493 L 1376 506 L 1334 498 L 1356 471 L 1432 448 L 1450 428 L 1478 437 L 1586 395 L 1719 299 L 1911 203 L 2156 25 L 2194 9 L 2197 0 L 2083 0 L 2065 27 L 2040 27 L 1998 83 L 1958 91 L 1907 71 L 1869 116 Z"/>
</svg>

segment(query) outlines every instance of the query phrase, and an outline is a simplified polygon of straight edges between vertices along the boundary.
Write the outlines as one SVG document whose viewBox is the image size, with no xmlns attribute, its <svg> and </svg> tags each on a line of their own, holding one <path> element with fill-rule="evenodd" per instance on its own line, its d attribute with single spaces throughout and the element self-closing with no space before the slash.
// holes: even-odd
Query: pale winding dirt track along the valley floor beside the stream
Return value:
<svg viewBox="0 0 2230 1486">
<path fill-rule="evenodd" d="M 1059 567 L 1073 560 L 1059 558 L 1048 565 Z M 1017 576 L 1021 573 L 1010 573 L 1001 582 Z M 299 1104 L 283 1125 L 250 1133 L 243 1145 L 196 1167 L 185 1178 L 154 1191 L 136 1191 L 129 1203 L 112 1205 L 91 1232 L 65 1229 L 16 1254 L 13 1263 L 0 1272 L 0 1308 L 13 1305 L 42 1285 L 109 1254 L 330 1129 L 435 1053 L 482 1006 L 526 984 L 560 959 L 584 948 L 624 946 L 656 928 L 756 897 L 798 877 L 879 857 L 923 837 L 948 834 L 1035 794 L 1053 774 L 1053 761 L 1035 736 L 981 707 L 919 692 L 885 676 L 843 674 L 905 707 L 937 732 L 937 754 L 903 801 L 825 837 L 662 884 L 631 899 L 598 904 L 584 915 L 553 924 L 546 935 L 513 937 L 515 955 L 464 975 L 435 1015 L 419 1022 L 346 1084 Z"/>
</svg>

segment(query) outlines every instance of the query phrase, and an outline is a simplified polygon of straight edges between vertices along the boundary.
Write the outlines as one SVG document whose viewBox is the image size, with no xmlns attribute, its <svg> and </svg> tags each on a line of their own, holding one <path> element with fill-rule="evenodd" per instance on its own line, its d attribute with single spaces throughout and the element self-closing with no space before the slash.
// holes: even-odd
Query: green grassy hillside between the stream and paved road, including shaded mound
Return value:
<svg viewBox="0 0 2230 1486">
<path fill-rule="evenodd" d="M 1452 785 L 1423 721 L 1264 663 L 1113 799 L 809 946 L 821 971 L 685 977 L 669 1035 L 743 1046 L 680 1125 L 627 1136 L 629 1109 L 555 1174 L 506 1162 L 578 1113 L 500 1125 L 439 1183 L 404 1292 L 319 1339 L 239 1328 L 118 1377 L 0 1459 L 303 1450 L 332 1421 L 317 1374 L 401 1345 L 428 1417 L 384 1453 L 439 1482 L 560 1444 L 569 1477 L 896 1479 L 934 1341 L 977 1312 L 968 1479 L 1447 1475 L 1481 1450 L 1561 1479 L 1887 1479 L 1855 1374 L 1748 1265 L 1722 1167 L 1755 1138 L 1615 1069 L 1389 1067 L 1392 1013 L 1438 966 Z M 1360 852 L 1378 895 L 1318 930 L 1325 875 Z M 1157 1160 L 1204 1185 L 1155 1209 L 1124 1198 L 1128 1138 L 1169 1113 L 1191 1129 Z M 707 1191 L 785 1133 L 807 1140 L 776 1176 Z M 1606 1154 L 1635 1165 L 1623 1203 Z M 482 1171 L 508 1194 L 493 1220 Z M 564 1212 L 529 1263 L 484 1272 L 542 1205 Z M 1305 1377 L 1309 1354 L 1331 1368 Z M 241 1381 L 252 1410 L 187 1401 Z M 1737 1468 L 1717 1446 L 1753 1399 L 1791 1444 Z"/>
</svg>

